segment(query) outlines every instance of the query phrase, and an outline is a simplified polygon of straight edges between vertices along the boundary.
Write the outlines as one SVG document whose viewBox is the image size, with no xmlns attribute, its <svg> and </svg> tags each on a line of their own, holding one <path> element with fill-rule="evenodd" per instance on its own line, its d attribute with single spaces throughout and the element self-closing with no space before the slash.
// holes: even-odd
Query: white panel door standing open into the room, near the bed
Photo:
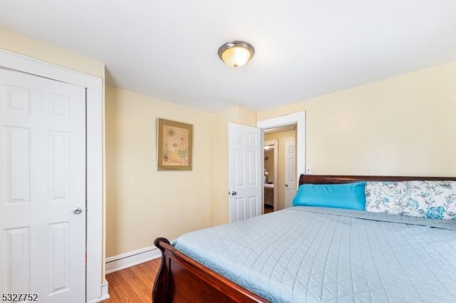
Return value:
<svg viewBox="0 0 456 303">
<path fill-rule="evenodd" d="M 263 211 L 261 129 L 229 124 L 229 220 L 259 216 Z"/>
</svg>

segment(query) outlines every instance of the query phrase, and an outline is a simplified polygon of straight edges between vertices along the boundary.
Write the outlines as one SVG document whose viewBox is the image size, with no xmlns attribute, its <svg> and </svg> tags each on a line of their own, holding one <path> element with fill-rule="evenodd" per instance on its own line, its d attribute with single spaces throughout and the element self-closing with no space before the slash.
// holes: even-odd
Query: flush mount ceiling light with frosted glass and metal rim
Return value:
<svg viewBox="0 0 456 303">
<path fill-rule="evenodd" d="M 239 68 L 247 63 L 255 53 L 254 47 L 244 41 L 231 41 L 219 48 L 219 57 L 231 68 Z"/>
</svg>

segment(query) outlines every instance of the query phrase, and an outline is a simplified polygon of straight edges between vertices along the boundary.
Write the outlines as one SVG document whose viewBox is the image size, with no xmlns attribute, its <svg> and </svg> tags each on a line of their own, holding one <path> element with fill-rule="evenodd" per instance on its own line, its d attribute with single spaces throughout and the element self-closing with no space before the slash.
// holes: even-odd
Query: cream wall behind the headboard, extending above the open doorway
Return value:
<svg viewBox="0 0 456 303">
<path fill-rule="evenodd" d="M 313 174 L 456 175 L 456 62 L 258 113 L 306 110 Z"/>
</svg>

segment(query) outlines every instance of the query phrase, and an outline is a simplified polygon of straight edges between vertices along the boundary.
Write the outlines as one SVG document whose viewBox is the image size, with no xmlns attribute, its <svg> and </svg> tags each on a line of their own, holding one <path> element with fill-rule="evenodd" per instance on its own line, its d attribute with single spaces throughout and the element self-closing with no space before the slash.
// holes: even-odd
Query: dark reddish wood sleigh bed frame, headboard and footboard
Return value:
<svg viewBox="0 0 456 303">
<path fill-rule="evenodd" d="M 455 177 L 423 176 L 319 176 L 301 175 L 299 184 L 343 184 L 356 181 L 456 181 Z M 160 270 L 152 289 L 152 302 L 268 302 L 208 267 L 184 255 L 165 238 L 154 244 L 162 252 Z"/>
</svg>

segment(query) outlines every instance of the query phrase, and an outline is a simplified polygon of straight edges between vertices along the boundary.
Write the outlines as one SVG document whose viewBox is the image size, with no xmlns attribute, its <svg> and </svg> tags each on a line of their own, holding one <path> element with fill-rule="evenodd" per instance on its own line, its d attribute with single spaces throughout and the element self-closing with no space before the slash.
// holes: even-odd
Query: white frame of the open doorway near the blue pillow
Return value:
<svg viewBox="0 0 456 303">
<path fill-rule="evenodd" d="M 296 124 L 296 180 L 300 174 L 306 174 L 306 112 L 274 117 L 257 121 L 257 127 L 261 128 L 261 139 L 264 141 L 264 129 Z M 262 151 L 264 158 L 264 150 Z M 297 189 L 296 182 L 296 189 Z"/>
</svg>

